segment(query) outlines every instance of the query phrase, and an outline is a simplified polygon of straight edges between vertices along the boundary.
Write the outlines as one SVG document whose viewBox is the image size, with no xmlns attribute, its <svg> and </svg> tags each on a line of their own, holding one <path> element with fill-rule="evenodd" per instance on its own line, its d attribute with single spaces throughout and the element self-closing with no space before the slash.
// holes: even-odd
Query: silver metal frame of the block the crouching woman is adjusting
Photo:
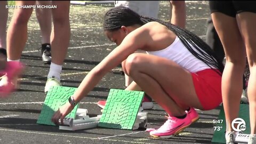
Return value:
<svg viewBox="0 0 256 144">
<path fill-rule="evenodd" d="M 147 112 L 139 112 L 136 121 L 133 125 L 132 130 L 137 130 L 139 127 L 146 128 L 147 127 Z M 87 109 L 77 109 L 76 118 L 73 119 L 70 117 L 65 117 L 63 119 L 63 125 L 59 126 L 60 130 L 68 130 L 68 131 L 76 131 L 82 129 L 91 129 L 98 126 L 101 115 L 97 117 L 89 117 L 87 115 Z M 59 119 L 60 123 L 60 119 Z"/>
</svg>

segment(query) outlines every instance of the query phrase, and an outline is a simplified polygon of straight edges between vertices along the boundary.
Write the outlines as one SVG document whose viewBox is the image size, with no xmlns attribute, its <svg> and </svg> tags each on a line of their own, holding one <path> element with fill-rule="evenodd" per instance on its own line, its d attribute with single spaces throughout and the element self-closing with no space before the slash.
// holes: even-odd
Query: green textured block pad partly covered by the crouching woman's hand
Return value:
<svg viewBox="0 0 256 144">
<path fill-rule="evenodd" d="M 47 92 L 44 104 L 41 110 L 41 114 L 37 119 L 37 124 L 45 125 L 55 125 L 52 123 L 51 118 L 55 111 L 59 109 L 62 105 L 68 102 L 68 98 L 73 95 L 77 90 L 75 87 L 65 87 L 65 86 L 52 86 Z M 79 103 L 66 117 L 74 118 L 76 117 L 76 111 Z"/>
</svg>

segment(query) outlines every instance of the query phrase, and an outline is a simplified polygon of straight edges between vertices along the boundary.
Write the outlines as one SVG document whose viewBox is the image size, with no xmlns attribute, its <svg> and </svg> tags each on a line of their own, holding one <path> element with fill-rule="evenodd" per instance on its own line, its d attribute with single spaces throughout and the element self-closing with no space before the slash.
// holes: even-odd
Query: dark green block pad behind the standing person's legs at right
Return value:
<svg viewBox="0 0 256 144">
<path fill-rule="evenodd" d="M 238 117 L 244 119 L 245 124 L 246 124 L 246 130 L 242 131 L 242 133 L 250 134 L 251 129 L 250 129 L 249 105 L 240 104 Z M 219 124 L 213 124 L 213 126 L 219 126 L 220 129 L 219 129 L 219 131 L 218 130 L 214 131 L 212 142 L 213 143 L 226 143 L 226 139 L 225 139 L 226 119 L 225 119 L 225 112 L 223 109 L 223 105 L 221 106 L 221 109 L 220 109 L 219 118 L 216 120 L 223 120 L 223 122 L 219 123 Z"/>
</svg>

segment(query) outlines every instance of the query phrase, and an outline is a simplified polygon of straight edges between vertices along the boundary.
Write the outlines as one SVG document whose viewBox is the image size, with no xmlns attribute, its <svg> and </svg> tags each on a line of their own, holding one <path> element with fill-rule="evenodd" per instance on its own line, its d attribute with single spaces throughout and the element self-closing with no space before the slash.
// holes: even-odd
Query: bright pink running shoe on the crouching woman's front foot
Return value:
<svg viewBox="0 0 256 144">
<path fill-rule="evenodd" d="M 187 115 L 185 118 L 169 116 L 167 121 L 159 129 L 151 131 L 149 134 L 154 138 L 170 138 L 173 135 L 178 135 L 191 123 L 192 122 L 189 115 Z"/>
</svg>

